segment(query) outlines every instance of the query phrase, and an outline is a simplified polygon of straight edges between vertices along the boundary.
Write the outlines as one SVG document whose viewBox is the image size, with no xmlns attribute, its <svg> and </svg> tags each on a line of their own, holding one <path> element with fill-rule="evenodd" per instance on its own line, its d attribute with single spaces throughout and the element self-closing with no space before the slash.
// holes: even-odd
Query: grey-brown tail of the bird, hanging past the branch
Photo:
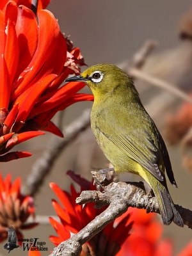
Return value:
<svg viewBox="0 0 192 256">
<path fill-rule="evenodd" d="M 175 205 L 173 204 L 173 200 L 168 192 L 168 189 L 158 182 L 157 186 L 153 188 L 153 191 L 159 204 L 163 223 L 165 225 L 170 225 L 170 223 L 173 221 L 178 226 L 183 227 L 184 223 L 179 212 L 175 209 Z"/>
</svg>

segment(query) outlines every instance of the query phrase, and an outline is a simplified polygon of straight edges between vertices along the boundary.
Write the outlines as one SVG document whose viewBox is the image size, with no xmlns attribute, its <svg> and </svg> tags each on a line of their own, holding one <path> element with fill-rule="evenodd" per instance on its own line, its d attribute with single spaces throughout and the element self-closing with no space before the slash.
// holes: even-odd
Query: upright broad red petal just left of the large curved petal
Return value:
<svg viewBox="0 0 192 256">
<path fill-rule="evenodd" d="M 35 14 L 25 6 L 19 6 L 15 29 L 19 42 L 19 66 L 16 74 L 18 77 L 28 67 L 38 44 L 38 24 Z"/>
</svg>

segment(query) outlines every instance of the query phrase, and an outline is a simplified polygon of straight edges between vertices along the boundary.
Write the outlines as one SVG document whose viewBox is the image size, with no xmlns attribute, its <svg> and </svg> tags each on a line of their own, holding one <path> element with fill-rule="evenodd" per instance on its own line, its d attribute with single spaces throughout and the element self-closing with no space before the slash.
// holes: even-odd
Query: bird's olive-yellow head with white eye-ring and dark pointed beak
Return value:
<svg viewBox="0 0 192 256">
<path fill-rule="evenodd" d="M 65 81 L 81 81 L 86 83 L 94 96 L 114 92 L 119 86 L 132 83 L 131 78 L 123 70 L 111 64 L 92 66 L 86 69 L 80 76 L 70 77 Z"/>
</svg>

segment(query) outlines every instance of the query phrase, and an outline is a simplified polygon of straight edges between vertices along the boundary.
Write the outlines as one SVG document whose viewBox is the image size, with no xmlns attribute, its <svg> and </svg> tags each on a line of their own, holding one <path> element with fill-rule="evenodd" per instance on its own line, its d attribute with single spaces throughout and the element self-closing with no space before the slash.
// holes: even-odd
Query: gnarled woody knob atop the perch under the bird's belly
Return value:
<svg viewBox="0 0 192 256">
<path fill-rule="evenodd" d="M 98 190 L 102 189 L 115 180 L 116 174 L 114 168 L 101 169 L 99 172 L 92 172 L 93 184 Z"/>
</svg>

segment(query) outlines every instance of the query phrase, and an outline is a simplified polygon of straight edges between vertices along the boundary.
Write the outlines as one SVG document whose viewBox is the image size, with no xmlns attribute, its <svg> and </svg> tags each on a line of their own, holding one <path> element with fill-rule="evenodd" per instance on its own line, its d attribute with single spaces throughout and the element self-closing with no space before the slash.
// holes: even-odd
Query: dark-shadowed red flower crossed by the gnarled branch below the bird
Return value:
<svg viewBox="0 0 192 256">
<path fill-rule="evenodd" d="M 71 173 L 70 173 L 71 175 Z M 72 174 L 81 184 L 83 189 L 95 189 L 95 187 L 88 182 L 88 180 L 80 178 L 78 175 Z M 95 204 L 87 204 L 85 207 L 76 204 L 76 198 L 79 193 L 76 192 L 74 186 L 71 186 L 71 193 L 62 191 L 58 185 L 53 182 L 50 184 L 51 189 L 60 199 L 61 205 L 52 200 L 52 206 L 60 218 L 60 222 L 49 218 L 52 227 L 56 230 L 58 237 L 51 236 L 52 243 L 58 245 L 61 241 L 70 238 L 70 232 L 77 233 L 92 221 L 104 209 L 95 209 Z M 93 237 L 88 243 L 83 244 L 83 251 L 81 255 L 115 255 L 114 252 L 120 250 L 125 239 L 129 236 L 132 222 L 129 221 L 129 214 L 125 213 L 121 221 L 113 221 L 104 228 L 98 236 Z"/>
</svg>

